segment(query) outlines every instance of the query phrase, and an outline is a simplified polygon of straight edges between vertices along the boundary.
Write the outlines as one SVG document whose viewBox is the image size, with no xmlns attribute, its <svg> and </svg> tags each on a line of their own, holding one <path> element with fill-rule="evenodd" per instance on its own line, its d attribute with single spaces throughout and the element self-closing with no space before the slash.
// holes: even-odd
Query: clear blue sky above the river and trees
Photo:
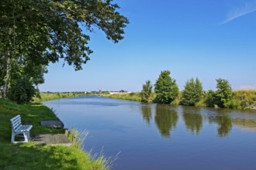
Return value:
<svg viewBox="0 0 256 170">
<path fill-rule="evenodd" d="M 114 0 L 130 19 L 117 44 L 95 30 L 83 70 L 50 64 L 41 91 L 140 91 L 170 70 L 180 90 L 198 77 L 204 90 L 216 79 L 233 89 L 256 87 L 256 0 Z"/>
</svg>

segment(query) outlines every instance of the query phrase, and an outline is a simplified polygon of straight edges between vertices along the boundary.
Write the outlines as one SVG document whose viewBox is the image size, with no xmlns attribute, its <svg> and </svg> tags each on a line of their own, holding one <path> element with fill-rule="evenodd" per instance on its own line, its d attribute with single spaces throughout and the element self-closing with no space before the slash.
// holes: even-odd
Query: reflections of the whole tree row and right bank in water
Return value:
<svg viewBox="0 0 256 170">
<path fill-rule="evenodd" d="M 164 138 L 171 137 L 171 130 L 176 127 L 179 116 L 183 117 L 185 128 L 192 134 L 197 135 L 202 131 L 204 120 L 208 120 L 209 124 L 218 125 L 216 133 L 219 137 L 229 135 L 234 125 L 238 128 L 256 131 L 256 115 L 255 117 L 248 117 L 251 114 L 239 114 L 232 110 L 215 110 L 202 107 L 170 107 L 164 104 L 143 104 L 140 110 L 147 124 L 150 124 L 154 117 L 154 123 Z"/>
</svg>

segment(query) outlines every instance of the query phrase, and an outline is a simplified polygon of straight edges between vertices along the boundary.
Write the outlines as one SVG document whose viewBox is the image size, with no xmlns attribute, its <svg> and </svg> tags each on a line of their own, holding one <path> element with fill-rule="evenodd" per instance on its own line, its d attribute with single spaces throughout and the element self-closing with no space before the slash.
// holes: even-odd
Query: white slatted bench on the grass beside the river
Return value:
<svg viewBox="0 0 256 170">
<path fill-rule="evenodd" d="M 16 117 L 12 117 L 10 119 L 12 123 L 12 143 L 20 143 L 20 142 L 28 142 L 30 138 L 29 131 L 33 127 L 32 125 L 22 125 L 21 124 L 21 117 L 18 114 Z M 16 134 L 23 134 L 24 141 L 14 141 Z"/>
</svg>

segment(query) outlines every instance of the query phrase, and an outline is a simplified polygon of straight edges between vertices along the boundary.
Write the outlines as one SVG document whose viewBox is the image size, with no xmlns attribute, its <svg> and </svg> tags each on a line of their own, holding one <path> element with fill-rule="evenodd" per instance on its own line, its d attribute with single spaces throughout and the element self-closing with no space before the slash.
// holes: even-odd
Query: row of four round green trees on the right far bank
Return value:
<svg viewBox="0 0 256 170">
<path fill-rule="evenodd" d="M 156 83 L 154 84 L 154 93 L 156 97 L 152 99 L 153 86 L 150 80 L 143 84 L 141 91 L 141 101 L 144 103 L 158 103 L 158 104 L 171 104 L 178 97 L 181 97 L 180 103 L 186 106 L 195 106 L 202 100 L 205 100 L 206 106 L 209 107 L 236 107 L 234 102 L 234 95 L 228 80 L 217 79 L 216 91 L 204 91 L 202 82 L 196 79 L 189 79 L 185 83 L 185 89 L 182 90 L 181 96 L 179 95 L 176 80 L 171 78 L 169 70 L 161 71 Z"/>
</svg>

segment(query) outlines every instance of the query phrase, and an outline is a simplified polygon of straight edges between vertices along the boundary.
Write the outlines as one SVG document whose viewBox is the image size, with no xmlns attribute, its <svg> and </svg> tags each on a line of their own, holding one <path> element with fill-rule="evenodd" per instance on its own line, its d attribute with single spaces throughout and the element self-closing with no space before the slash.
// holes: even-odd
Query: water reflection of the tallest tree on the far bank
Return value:
<svg viewBox="0 0 256 170">
<path fill-rule="evenodd" d="M 154 116 L 155 124 L 164 138 L 170 138 L 171 129 L 176 127 L 178 114 L 164 104 L 157 104 Z"/>
</svg>

